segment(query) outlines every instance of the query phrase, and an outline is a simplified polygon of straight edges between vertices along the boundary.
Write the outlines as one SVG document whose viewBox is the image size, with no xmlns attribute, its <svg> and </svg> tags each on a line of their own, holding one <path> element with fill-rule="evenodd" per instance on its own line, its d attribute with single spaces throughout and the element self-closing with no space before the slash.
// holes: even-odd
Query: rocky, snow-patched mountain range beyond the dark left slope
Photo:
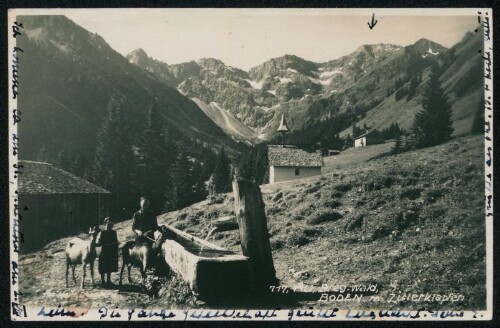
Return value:
<svg viewBox="0 0 500 328">
<path fill-rule="evenodd" d="M 169 65 L 142 49 L 126 58 L 193 99 L 233 138 L 252 142 L 271 139 L 282 113 L 295 130 L 314 129 L 339 113 L 351 113 L 353 121 L 369 128 L 397 123 L 408 130 L 421 108 L 419 95 L 428 69 L 437 64 L 452 103 L 455 134 L 461 135 L 469 131 L 481 98 L 481 42 L 479 34 L 467 33 L 451 49 L 428 39 L 406 47 L 363 45 L 324 63 L 284 55 L 248 72 L 213 58 Z M 410 88 L 415 77 L 415 96 L 396 101 L 397 89 Z M 346 127 L 340 135 L 350 132 Z"/>
</svg>

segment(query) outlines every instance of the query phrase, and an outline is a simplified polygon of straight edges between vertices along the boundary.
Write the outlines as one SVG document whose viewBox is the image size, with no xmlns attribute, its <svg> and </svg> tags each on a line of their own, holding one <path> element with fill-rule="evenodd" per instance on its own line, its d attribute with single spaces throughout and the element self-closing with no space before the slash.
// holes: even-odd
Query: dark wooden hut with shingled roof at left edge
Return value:
<svg viewBox="0 0 500 328">
<path fill-rule="evenodd" d="M 109 191 L 49 163 L 21 160 L 19 165 L 22 253 L 86 231 L 108 214 Z"/>
</svg>

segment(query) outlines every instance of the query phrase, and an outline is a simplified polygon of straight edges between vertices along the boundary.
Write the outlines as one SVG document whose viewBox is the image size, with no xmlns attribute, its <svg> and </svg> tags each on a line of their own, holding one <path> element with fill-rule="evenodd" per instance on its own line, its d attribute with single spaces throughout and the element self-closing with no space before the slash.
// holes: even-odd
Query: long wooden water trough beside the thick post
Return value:
<svg viewBox="0 0 500 328">
<path fill-rule="evenodd" d="M 221 299 L 248 292 L 248 257 L 226 250 L 186 232 L 166 226 L 162 254 L 201 299 Z"/>
</svg>

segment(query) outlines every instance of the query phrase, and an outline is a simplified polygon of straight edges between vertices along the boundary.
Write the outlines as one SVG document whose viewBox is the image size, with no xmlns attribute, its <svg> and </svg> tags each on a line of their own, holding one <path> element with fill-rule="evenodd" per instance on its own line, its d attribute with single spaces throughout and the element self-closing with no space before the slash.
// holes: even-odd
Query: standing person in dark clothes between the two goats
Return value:
<svg viewBox="0 0 500 328">
<path fill-rule="evenodd" d="M 101 246 L 99 254 L 99 273 L 101 284 L 112 285 L 111 272 L 118 271 L 118 237 L 113 230 L 113 221 L 110 217 L 104 219 L 104 230 L 97 236 L 96 246 Z M 107 277 L 107 282 L 104 276 Z"/>
</svg>

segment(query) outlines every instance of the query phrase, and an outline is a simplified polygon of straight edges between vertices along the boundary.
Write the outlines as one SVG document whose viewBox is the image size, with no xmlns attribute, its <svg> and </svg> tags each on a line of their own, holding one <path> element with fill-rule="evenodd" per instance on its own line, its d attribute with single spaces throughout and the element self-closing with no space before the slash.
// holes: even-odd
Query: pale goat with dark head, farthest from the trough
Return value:
<svg viewBox="0 0 500 328">
<path fill-rule="evenodd" d="M 96 227 L 91 227 L 89 229 L 89 240 L 82 240 L 80 238 L 71 239 L 66 245 L 66 288 L 68 287 L 68 273 L 69 267 L 71 266 L 71 271 L 73 274 L 73 281 L 76 284 L 75 278 L 75 267 L 77 264 L 83 264 L 83 277 L 82 286 L 85 287 L 85 277 L 87 276 L 86 266 L 90 267 L 90 278 L 92 280 L 92 286 L 94 286 L 94 262 L 97 257 L 95 250 L 95 242 L 99 229 Z"/>
</svg>

